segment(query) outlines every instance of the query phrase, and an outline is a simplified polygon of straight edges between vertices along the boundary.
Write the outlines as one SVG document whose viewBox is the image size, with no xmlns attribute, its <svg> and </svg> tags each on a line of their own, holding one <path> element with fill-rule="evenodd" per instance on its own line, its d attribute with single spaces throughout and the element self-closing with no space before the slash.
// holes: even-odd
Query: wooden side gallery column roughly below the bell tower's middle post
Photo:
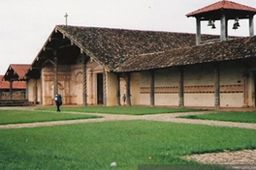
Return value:
<svg viewBox="0 0 256 170">
<path fill-rule="evenodd" d="M 220 78 L 219 78 L 219 64 L 214 64 L 214 108 L 220 108 Z"/>
</svg>

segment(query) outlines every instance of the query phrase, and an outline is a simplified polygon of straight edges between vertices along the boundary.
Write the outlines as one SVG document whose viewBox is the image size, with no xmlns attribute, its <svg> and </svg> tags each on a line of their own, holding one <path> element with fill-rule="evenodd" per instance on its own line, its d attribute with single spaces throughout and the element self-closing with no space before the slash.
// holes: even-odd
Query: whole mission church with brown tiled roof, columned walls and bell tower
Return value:
<svg viewBox="0 0 256 170">
<path fill-rule="evenodd" d="M 24 79 L 27 99 L 64 104 L 255 107 L 256 9 L 222 0 L 186 16 L 196 34 L 57 25 Z M 229 37 L 247 19 L 249 37 Z M 220 36 L 201 23 L 220 21 Z M 234 20 L 234 25 L 228 25 Z M 123 95 L 126 96 L 125 103 Z"/>
</svg>

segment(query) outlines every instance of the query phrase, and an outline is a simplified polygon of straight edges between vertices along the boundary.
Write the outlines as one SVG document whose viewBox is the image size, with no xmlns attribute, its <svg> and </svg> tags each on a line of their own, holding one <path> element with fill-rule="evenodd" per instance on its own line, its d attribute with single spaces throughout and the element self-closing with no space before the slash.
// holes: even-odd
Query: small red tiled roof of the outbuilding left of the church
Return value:
<svg viewBox="0 0 256 170">
<path fill-rule="evenodd" d="M 23 80 L 29 67 L 30 65 L 11 64 L 4 75 L 4 79 L 10 80 L 12 78 L 16 80 Z"/>
</svg>

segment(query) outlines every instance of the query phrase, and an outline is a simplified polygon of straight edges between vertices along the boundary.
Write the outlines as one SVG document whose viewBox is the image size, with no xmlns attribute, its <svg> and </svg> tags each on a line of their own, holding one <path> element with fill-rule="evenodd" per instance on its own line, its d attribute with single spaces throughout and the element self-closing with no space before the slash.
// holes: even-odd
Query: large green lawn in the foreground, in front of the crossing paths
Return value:
<svg viewBox="0 0 256 170">
<path fill-rule="evenodd" d="M 0 169 L 134 170 L 193 164 L 179 156 L 256 149 L 256 130 L 154 121 L 0 129 Z"/>
</svg>

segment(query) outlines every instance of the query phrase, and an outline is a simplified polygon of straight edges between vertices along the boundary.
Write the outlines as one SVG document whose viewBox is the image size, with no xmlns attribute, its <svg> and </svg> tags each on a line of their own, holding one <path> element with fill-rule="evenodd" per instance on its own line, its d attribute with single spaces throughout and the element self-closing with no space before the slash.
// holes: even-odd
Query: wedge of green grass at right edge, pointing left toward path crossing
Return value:
<svg viewBox="0 0 256 170">
<path fill-rule="evenodd" d="M 216 120 L 240 123 L 256 123 L 256 112 L 218 112 L 204 115 L 180 116 L 180 118 Z"/>
</svg>

